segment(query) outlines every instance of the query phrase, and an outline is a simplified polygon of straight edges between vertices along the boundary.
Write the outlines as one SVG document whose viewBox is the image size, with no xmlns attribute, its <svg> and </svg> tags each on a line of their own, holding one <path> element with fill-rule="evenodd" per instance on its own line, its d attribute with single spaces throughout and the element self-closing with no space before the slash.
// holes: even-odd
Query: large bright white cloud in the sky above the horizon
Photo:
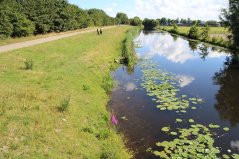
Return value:
<svg viewBox="0 0 239 159">
<path fill-rule="evenodd" d="M 135 0 L 135 14 L 141 18 L 218 20 L 227 3 L 227 0 Z"/>
</svg>

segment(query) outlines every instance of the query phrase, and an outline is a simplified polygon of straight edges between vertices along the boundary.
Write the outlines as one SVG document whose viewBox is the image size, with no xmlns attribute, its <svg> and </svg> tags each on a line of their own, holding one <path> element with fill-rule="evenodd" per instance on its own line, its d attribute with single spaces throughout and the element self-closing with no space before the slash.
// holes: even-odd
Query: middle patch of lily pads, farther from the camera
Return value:
<svg viewBox="0 0 239 159">
<path fill-rule="evenodd" d="M 179 82 L 175 75 L 166 70 L 157 68 L 152 63 L 141 63 L 143 71 L 142 87 L 146 89 L 147 95 L 153 97 L 158 103 L 160 110 L 174 110 L 186 113 L 190 105 L 203 103 L 199 98 L 188 98 L 187 95 L 179 95 Z M 191 107 L 193 110 L 195 106 Z"/>
</svg>

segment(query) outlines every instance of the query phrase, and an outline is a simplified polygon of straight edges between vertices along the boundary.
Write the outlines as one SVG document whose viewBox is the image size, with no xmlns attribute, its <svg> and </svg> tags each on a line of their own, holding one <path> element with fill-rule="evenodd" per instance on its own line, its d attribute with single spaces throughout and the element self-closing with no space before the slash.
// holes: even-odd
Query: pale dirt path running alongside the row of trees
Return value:
<svg viewBox="0 0 239 159">
<path fill-rule="evenodd" d="M 104 27 L 103 29 L 110 29 L 113 27 L 115 27 L 115 26 Z M 0 46 L 0 53 L 12 51 L 12 50 L 16 50 L 16 49 L 20 49 L 20 48 L 24 48 L 24 47 L 34 46 L 34 45 L 38 45 L 38 44 L 42 44 L 42 43 L 46 43 L 46 42 L 50 42 L 50 41 L 55 41 L 55 40 L 59 40 L 62 38 L 76 36 L 76 35 L 83 34 L 83 33 L 94 32 L 94 31 L 96 32 L 96 29 L 83 30 L 83 31 L 78 31 L 78 32 L 73 32 L 73 33 L 65 33 L 65 34 L 61 34 L 61 35 L 56 35 L 56 36 L 51 36 L 51 37 L 46 37 L 46 38 L 41 38 L 41 39 L 36 39 L 36 40 L 30 40 L 30 41 L 25 41 L 25 42 L 4 45 L 4 46 Z"/>
</svg>

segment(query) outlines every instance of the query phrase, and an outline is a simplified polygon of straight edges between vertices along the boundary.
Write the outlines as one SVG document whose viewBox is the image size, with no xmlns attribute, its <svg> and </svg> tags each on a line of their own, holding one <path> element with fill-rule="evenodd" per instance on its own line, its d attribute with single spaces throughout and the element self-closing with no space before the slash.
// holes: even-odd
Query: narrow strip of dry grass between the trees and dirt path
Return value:
<svg viewBox="0 0 239 159">
<path fill-rule="evenodd" d="M 72 33 L 72 32 L 78 32 L 78 31 L 83 31 L 83 30 L 90 30 L 90 29 L 96 29 L 96 27 L 89 27 L 89 28 L 84 28 L 84 29 L 78 29 L 78 30 L 73 30 L 73 31 L 67 31 L 67 32 L 60 32 L 60 33 L 48 33 L 48 34 L 39 34 L 39 35 L 31 35 L 28 37 L 21 37 L 21 38 L 7 38 L 7 39 L 0 39 L 0 46 L 3 45 L 8 45 L 8 44 L 13 44 L 13 43 L 18 43 L 18 42 L 24 42 L 24 41 L 29 41 L 29 40 L 35 40 L 35 39 L 40 39 L 40 38 L 47 38 L 50 36 L 55 36 L 55 35 L 61 35 L 65 33 Z"/>
</svg>

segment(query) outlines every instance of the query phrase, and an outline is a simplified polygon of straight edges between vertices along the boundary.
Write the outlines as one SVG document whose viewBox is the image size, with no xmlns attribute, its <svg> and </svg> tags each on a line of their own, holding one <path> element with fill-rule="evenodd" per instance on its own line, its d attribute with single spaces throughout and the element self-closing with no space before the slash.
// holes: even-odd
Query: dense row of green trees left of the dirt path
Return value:
<svg viewBox="0 0 239 159">
<path fill-rule="evenodd" d="M 115 18 L 100 9 L 83 10 L 67 0 L 0 0 L 0 38 L 22 37 L 118 24 L 138 25 L 124 13 Z"/>
</svg>

